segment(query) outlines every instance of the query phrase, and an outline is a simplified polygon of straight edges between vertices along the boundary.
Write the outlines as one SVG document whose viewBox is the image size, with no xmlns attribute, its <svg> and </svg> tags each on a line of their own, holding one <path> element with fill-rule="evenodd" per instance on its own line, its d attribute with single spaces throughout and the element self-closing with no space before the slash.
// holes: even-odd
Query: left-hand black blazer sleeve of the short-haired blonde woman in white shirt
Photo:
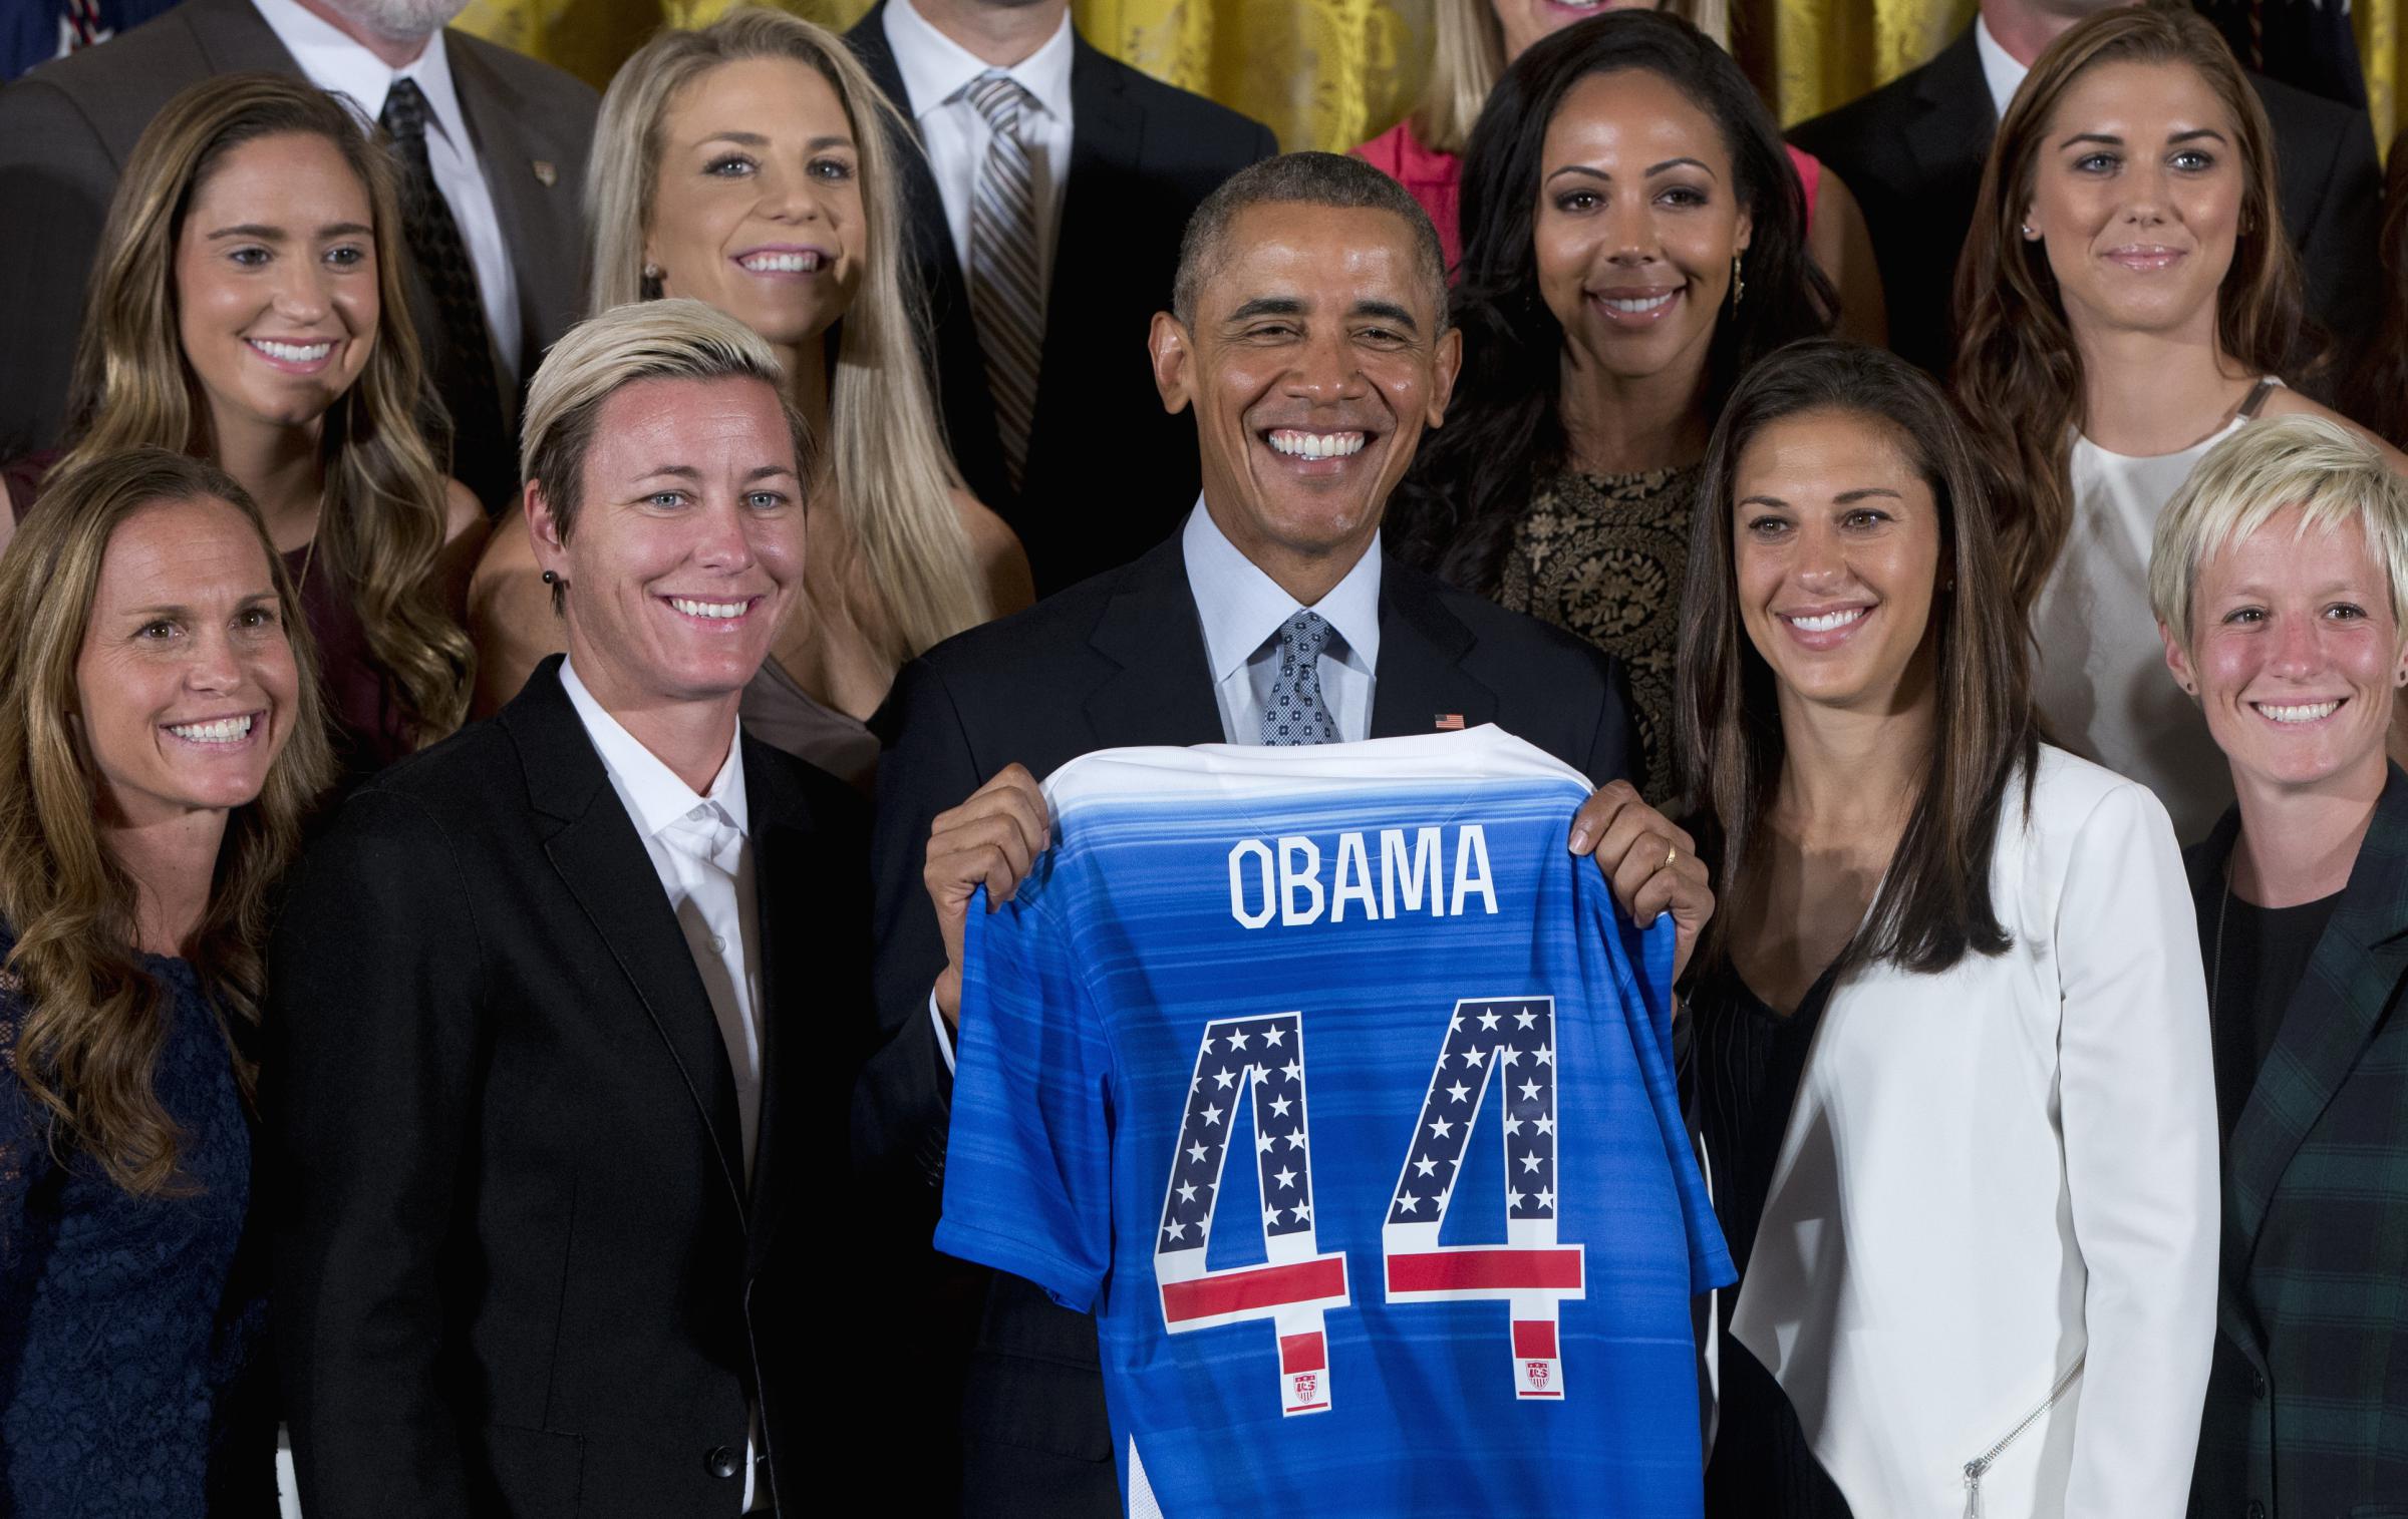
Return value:
<svg viewBox="0 0 2408 1519">
<path fill-rule="evenodd" d="M 436 818 L 371 787 L 308 852 L 270 944 L 277 1360 L 311 1519 L 474 1507 L 441 1307 L 472 1189 L 472 900 Z"/>
</svg>

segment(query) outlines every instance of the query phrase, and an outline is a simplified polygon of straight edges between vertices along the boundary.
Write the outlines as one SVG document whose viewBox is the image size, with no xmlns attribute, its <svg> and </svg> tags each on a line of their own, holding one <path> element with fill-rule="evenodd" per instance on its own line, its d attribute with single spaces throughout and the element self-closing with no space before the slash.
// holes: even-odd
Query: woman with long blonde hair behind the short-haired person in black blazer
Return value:
<svg viewBox="0 0 2408 1519">
<path fill-rule="evenodd" d="M 1033 599 L 1002 518 L 961 489 L 915 347 L 908 125 L 824 26 L 737 10 L 662 31 L 612 79 L 585 185 L 592 311 L 694 296 L 766 337 L 819 441 L 804 595 L 746 691 L 754 734 L 867 785 L 864 720 L 920 650 Z M 498 705 L 561 643 L 523 532 L 472 616 Z"/>
</svg>

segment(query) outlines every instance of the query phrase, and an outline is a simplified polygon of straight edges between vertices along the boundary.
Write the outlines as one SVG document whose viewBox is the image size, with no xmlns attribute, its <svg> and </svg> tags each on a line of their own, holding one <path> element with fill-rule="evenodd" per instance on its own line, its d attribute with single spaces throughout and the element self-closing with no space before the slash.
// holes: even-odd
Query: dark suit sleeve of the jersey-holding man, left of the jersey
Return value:
<svg viewBox="0 0 2408 1519">
<path fill-rule="evenodd" d="M 937 814 L 961 806 L 982 778 L 954 696 L 927 660 L 903 667 L 872 727 L 886 741 L 869 838 L 879 1026 L 852 1100 L 852 1158 L 864 1180 L 891 1184 L 879 1187 L 891 1201 L 925 1206 L 934 1228 L 954 1074 L 927 1011 L 944 975 L 944 934 L 922 869 Z M 913 1196 L 920 1204 L 905 1201 Z"/>
</svg>

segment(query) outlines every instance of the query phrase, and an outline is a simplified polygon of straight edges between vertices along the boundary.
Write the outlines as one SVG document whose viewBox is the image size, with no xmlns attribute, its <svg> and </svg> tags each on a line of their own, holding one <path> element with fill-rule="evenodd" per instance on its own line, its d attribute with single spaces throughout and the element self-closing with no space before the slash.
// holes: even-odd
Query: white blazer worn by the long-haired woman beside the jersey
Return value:
<svg viewBox="0 0 2408 1519">
<path fill-rule="evenodd" d="M 2042 749 L 1989 888 L 2006 953 L 1832 989 L 1731 1336 L 1857 1514 L 2179 1519 L 2218 1143 L 2174 831 Z"/>
</svg>

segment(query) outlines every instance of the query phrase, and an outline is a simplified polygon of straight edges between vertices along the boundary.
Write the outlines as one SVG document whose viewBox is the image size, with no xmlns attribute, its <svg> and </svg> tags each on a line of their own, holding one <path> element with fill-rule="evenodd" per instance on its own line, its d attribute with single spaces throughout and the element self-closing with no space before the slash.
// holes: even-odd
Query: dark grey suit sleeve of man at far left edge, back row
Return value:
<svg viewBox="0 0 2408 1519">
<path fill-rule="evenodd" d="M 67 424 L 67 376 L 84 282 L 101 246 L 118 166 L 92 120 L 46 79 L 0 89 L 0 460 L 53 448 Z"/>
</svg>

